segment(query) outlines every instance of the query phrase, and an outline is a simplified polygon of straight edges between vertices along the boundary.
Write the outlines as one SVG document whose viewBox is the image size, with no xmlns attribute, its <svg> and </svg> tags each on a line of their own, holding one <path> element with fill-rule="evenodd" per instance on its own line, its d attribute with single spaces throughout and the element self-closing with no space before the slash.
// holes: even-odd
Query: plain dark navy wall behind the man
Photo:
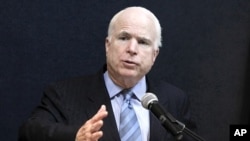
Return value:
<svg viewBox="0 0 250 141">
<path fill-rule="evenodd" d="M 0 140 L 17 140 L 49 83 L 105 63 L 109 20 L 134 5 L 160 20 L 150 75 L 189 95 L 197 133 L 228 141 L 230 124 L 249 123 L 250 1 L 1 0 Z"/>
</svg>

